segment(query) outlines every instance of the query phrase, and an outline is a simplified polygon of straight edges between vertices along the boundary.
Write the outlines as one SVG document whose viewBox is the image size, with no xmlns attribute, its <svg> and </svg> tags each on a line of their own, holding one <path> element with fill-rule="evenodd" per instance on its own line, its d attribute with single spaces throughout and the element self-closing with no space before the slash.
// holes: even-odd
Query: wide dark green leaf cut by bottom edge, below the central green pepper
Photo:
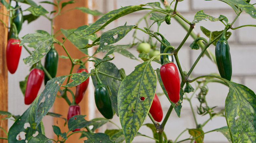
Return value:
<svg viewBox="0 0 256 143">
<path fill-rule="evenodd" d="M 87 140 L 84 140 L 84 143 L 115 143 L 110 140 L 109 135 L 104 133 L 89 133 L 82 131 L 82 134 L 87 137 Z"/>
</svg>

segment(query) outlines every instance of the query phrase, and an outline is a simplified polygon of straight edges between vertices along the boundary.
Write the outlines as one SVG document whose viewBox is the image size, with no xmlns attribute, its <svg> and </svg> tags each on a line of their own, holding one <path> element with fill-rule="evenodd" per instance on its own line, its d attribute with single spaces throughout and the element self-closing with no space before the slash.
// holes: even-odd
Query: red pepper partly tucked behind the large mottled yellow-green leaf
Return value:
<svg viewBox="0 0 256 143">
<path fill-rule="evenodd" d="M 152 105 L 149 109 L 149 113 L 152 115 L 155 121 L 160 122 L 163 119 L 163 110 L 161 103 L 155 94 Z"/>
</svg>

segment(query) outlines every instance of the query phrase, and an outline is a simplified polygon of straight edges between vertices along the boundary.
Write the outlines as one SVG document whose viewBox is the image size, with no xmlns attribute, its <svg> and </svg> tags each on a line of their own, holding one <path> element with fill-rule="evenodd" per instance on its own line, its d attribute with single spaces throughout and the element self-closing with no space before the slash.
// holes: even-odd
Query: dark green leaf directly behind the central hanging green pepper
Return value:
<svg viewBox="0 0 256 143">
<path fill-rule="evenodd" d="M 117 78 L 121 78 L 119 70 L 117 69 L 116 65 L 114 65 L 111 62 L 104 62 L 104 63 L 100 64 L 99 71 L 109 74 L 111 76 L 117 77 Z M 107 77 L 102 74 L 98 74 L 98 76 L 99 76 L 99 79 L 101 80 L 101 82 L 110 88 L 110 92 L 111 92 L 110 99 L 111 99 L 112 108 L 116 112 L 117 116 L 119 116 L 118 108 L 117 108 L 117 94 L 118 94 L 118 90 L 119 90 L 121 81 L 113 79 L 111 77 Z M 97 79 L 96 79 L 95 75 L 92 76 L 92 80 L 93 80 L 93 85 L 96 87 Z"/>
</svg>

